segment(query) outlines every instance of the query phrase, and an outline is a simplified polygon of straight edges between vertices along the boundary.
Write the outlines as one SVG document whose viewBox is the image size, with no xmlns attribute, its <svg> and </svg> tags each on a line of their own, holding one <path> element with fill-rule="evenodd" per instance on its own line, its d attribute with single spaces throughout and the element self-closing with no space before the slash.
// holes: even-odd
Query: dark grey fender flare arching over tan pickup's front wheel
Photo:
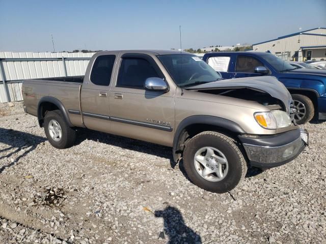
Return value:
<svg viewBox="0 0 326 244">
<path fill-rule="evenodd" d="M 187 126 L 195 125 L 195 124 L 202 124 L 202 125 L 207 125 L 207 126 L 217 126 L 221 127 L 224 129 L 227 129 L 229 131 L 232 131 L 234 133 L 238 134 L 245 134 L 246 132 L 235 122 L 226 119 L 226 118 L 221 118 L 221 117 L 216 117 L 216 116 L 211 116 L 211 115 L 193 115 L 186 117 L 183 119 L 175 134 L 174 134 L 174 139 L 173 139 L 173 160 L 177 162 L 178 160 L 178 144 L 180 140 L 180 136 L 182 135 L 182 132 Z"/>
</svg>

